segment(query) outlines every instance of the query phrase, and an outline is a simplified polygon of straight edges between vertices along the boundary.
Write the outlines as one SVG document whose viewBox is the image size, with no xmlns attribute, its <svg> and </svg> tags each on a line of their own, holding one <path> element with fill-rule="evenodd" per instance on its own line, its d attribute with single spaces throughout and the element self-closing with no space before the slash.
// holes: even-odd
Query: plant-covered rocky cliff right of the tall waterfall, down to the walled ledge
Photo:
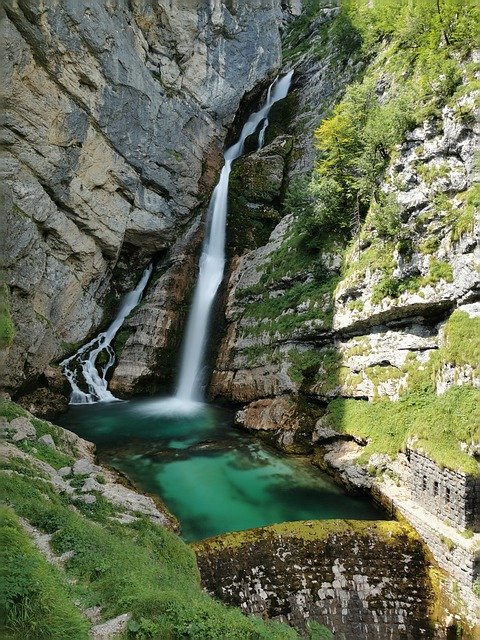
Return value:
<svg viewBox="0 0 480 640">
<path fill-rule="evenodd" d="M 320 7 L 287 33 L 300 108 L 238 167 L 244 209 L 268 205 L 277 222 L 236 252 L 211 392 L 241 405 L 238 427 L 311 454 L 413 524 L 475 637 L 480 494 L 464 487 L 480 476 L 478 53 L 465 32 L 449 50 L 436 23 L 433 68 L 395 16 L 375 26 L 384 3 L 357 4 L 373 27 Z"/>
</svg>

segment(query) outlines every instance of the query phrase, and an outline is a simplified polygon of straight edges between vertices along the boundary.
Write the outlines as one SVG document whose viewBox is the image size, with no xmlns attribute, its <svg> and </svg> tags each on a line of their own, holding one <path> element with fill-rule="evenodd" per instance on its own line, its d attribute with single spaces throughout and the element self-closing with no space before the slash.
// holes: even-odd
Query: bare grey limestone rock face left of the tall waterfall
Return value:
<svg viewBox="0 0 480 640">
<path fill-rule="evenodd" d="M 120 256 L 138 273 L 198 217 L 225 127 L 278 67 L 295 11 L 276 0 L 5 3 L 7 389 L 97 329 Z"/>
</svg>

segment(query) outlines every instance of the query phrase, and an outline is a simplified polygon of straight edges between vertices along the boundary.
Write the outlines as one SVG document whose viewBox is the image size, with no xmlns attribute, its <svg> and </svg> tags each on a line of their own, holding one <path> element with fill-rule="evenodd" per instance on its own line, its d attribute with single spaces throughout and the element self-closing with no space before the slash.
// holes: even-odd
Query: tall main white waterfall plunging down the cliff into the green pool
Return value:
<svg viewBox="0 0 480 640">
<path fill-rule="evenodd" d="M 277 78 L 269 87 L 263 107 L 252 113 L 245 123 L 237 142 L 224 153 L 225 163 L 220 179 L 212 194 L 208 208 L 208 224 L 200 257 L 199 276 L 187 322 L 180 376 L 176 398 L 181 401 L 201 399 L 202 368 L 208 333 L 210 310 L 223 279 L 225 267 L 225 232 L 228 206 L 228 181 L 232 162 L 243 153 L 246 138 L 253 134 L 263 121 L 258 137 L 258 148 L 265 141 L 268 113 L 275 102 L 285 98 L 290 88 L 293 71 Z"/>
</svg>

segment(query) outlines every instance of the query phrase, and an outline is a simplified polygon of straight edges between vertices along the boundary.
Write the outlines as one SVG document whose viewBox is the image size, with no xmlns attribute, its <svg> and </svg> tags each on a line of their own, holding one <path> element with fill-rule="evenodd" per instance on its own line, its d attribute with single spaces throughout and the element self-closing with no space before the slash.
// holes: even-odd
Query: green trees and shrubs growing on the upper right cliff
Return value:
<svg viewBox="0 0 480 640">
<path fill-rule="evenodd" d="M 308 3 L 290 28 L 292 55 L 320 8 Z M 472 48 L 477 24 L 473 0 L 344 0 L 333 23 L 321 25 L 331 51 L 336 47 L 346 59 L 361 45 L 364 60 L 372 62 L 315 131 L 315 171 L 303 193 L 292 190 L 293 207 L 287 197 L 310 247 L 332 232 L 348 236 L 353 219 L 365 215 L 395 145 L 438 114 L 461 84 L 460 58 Z M 381 207 L 375 218 L 380 237 L 398 233 L 397 214 L 393 202 Z"/>
</svg>

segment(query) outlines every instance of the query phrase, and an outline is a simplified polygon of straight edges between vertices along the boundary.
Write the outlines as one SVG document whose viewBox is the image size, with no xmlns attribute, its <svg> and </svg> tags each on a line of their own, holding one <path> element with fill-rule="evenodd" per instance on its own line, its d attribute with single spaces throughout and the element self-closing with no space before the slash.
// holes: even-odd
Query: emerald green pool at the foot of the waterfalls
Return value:
<svg viewBox="0 0 480 640">
<path fill-rule="evenodd" d="M 62 423 L 95 442 L 102 461 L 158 495 L 187 541 L 288 520 L 383 519 L 299 457 L 232 428 L 208 405 L 179 414 L 169 401 L 72 406 Z"/>
</svg>

